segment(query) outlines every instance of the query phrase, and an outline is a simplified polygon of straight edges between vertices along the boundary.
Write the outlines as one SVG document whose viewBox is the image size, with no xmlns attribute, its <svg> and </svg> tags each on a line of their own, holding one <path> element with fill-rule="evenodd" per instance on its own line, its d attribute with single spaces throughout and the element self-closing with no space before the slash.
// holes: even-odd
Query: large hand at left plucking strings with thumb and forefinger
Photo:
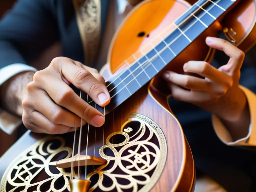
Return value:
<svg viewBox="0 0 256 192">
<path fill-rule="evenodd" d="M 57 57 L 47 68 L 37 71 L 27 85 L 22 102 L 22 120 L 27 129 L 49 134 L 71 132 L 80 127 L 81 118 L 82 125 L 103 125 L 103 114 L 81 99 L 70 84 L 88 93 L 100 106 L 110 102 L 105 81 L 96 69 Z"/>
</svg>

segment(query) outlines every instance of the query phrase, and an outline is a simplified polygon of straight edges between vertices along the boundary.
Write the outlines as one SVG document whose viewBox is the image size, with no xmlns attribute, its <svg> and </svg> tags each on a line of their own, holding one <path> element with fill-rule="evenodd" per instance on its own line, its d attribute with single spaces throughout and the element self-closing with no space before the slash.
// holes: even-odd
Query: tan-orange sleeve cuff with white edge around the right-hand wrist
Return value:
<svg viewBox="0 0 256 192">
<path fill-rule="evenodd" d="M 219 139 L 225 143 L 226 145 L 246 145 L 246 146 L 256 146 L 256 95 L 250 91 L 249 89 L 240 86 L 240 89 L 244 91 L 244 94 L 247 97 L 250 115 L 251 115 L 251 123 L 249 126 L 249 131 L 246 137 L 241 138 L 239 140 L 233 141 L 230 133 L 220 121 L 220 119 L 216 115 L 212 115 L 212 124 L 215 130 L 215 133 L 219 137 Z"/>
</svg>

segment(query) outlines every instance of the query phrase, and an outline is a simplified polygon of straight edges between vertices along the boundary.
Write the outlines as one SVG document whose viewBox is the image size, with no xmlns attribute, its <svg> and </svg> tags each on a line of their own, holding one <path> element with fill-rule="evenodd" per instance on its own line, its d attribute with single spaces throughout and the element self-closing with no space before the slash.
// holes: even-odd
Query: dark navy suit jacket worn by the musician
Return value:
<svg viewBox="0 0 256 192">
<path fill-rule="evenodd" d="M 102 32 L 108 0 L 102 0 Z M 20 0 L 0 22 L 0 68 L 12 63 L 29 63 L 54 42 L 61 42 L 62 56 L 83 62 L 84 54 L 71 0 Z M 241 69 L 241 85 L 256 93 L 255 48 Z M 215 67 L 228 57 L 217 51 Z M 190 144 L 197 174 L 206 173 L 228 191 L 255 191 L 256 155 L 245 148 L 227 146 L 216 136 L 211 114 L 170 98 Z"/>
</svg>

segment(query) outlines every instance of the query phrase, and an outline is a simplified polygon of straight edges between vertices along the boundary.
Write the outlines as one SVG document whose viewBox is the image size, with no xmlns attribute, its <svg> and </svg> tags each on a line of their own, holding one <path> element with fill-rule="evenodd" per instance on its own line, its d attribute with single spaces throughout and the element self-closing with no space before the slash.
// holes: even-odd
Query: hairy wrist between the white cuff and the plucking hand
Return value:
<svg viewBox="0 0 256 192">
<path fill-rule="evenodd" d="M 35 72 L 18 73 L 0 86 L 0 106 L 16 115 L 22 116 L 22 100 L 26 87 L 33 80 Z"/>
</svg>

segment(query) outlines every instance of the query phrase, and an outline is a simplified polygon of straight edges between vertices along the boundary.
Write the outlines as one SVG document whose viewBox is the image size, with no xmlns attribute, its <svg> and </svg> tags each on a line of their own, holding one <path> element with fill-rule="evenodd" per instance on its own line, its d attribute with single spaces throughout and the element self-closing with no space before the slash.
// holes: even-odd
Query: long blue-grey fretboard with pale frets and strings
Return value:
<svg viewBox="0 0 256 192">
<path fill-rule="evenodd" d="M 112 111 L 149 82 L 235 2 L 236 0 L 199 0 L 173 22 L 176 29 L 170 35 L 132 63 L 128 69 L 106 82 L 111 101 L 105 108 L 91 99 L 88 103 L 102 114 Z"/>
</svg>

